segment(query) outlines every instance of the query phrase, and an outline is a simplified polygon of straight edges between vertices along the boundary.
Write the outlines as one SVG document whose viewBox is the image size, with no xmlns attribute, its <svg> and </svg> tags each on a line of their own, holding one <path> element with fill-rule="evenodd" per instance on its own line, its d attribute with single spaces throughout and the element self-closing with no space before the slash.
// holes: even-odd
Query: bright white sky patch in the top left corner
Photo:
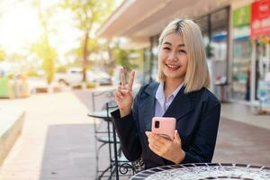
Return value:
<svg viewBox="0 0 270 180">
<path fill-rule="evenodd" d="M 24 43 L 36 40 L 40 35 L 37 15 L 25 1 L 4 1 L 0 10 L 0 46 L 7 53 L 22 49 Z"/>
</svg>

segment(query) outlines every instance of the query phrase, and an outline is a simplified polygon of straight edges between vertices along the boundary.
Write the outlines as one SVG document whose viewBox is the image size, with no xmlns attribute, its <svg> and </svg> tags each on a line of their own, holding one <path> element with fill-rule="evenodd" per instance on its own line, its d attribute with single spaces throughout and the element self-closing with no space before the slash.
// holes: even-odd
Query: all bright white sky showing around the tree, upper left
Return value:
<svg viewBox="0 0 270 180">
<path fill-rule="evenodd" d="M 41 0 L 41 6 L 46 8 L 58 2 Z M 31 0 L 0 1 L 0 12 L 0 48 L 7 54 L 22 54 L 31 43 L 39 40 L 42 28 L 38 10 L 31 6 Z M 78 46 L 76 41 L 81 32 L 74 28 L 71 14 L 58 10 L 53 17 L 49 24 L 51 28 L 57 27 L 57 32 L 49 39 L 61 58 L 69 49 Z"/>
</svg>

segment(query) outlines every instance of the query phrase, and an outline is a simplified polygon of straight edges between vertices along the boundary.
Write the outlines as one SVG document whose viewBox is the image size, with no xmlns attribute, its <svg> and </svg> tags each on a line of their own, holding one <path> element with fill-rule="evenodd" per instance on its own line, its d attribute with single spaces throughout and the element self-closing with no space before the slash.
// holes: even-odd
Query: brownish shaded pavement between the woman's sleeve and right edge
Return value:
<svg viewBox="0 0 270 180">
<path fill-rule="evenodd" d="M 220 119 L 212 162 L 270 166 L 270 130 Z"/>
</svg>

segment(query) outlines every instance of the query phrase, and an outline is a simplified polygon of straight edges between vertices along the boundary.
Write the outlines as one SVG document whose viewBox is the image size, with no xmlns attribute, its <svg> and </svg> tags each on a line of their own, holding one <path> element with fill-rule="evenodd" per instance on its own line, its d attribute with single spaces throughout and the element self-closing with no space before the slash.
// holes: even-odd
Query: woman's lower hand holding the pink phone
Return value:
<svg viewBox="0 0 270 180">
<path fill-rule="evenodd" d="M 175 164 L 183 161 L 185 153 L 177 130 L 175 130 L 173 140 L 166 139 L 151 131 L 146 131 L 146 135 L 148 137 L 148 147 L 159 157 L 164 157 Z"/>
</svg>

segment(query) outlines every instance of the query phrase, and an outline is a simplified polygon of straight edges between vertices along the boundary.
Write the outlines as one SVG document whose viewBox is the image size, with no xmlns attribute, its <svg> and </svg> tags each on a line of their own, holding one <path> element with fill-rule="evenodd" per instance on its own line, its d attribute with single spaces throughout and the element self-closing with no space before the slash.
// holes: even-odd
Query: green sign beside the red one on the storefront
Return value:
<svg viewBox="0 0 270 180">
<path fill-rule="evenodd" d="M 241 27 L 250 24 L 250 4 L 240 7 L 232 13 L 232 24 L 233 27 Z"/>
</svg>

